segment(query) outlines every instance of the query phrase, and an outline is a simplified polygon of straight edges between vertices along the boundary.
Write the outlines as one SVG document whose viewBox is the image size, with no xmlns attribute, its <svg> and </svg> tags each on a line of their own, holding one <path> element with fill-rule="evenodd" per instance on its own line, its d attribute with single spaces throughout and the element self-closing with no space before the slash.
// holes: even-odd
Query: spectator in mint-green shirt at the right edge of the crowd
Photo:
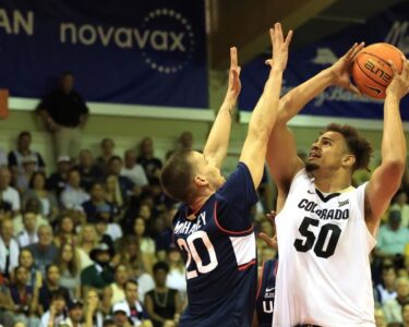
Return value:
<svg viewBox="0 0 409 327">
<path fill-rule="evenodd" d="M 402 256 L 409 243 L 409 230 L 401 227 L 400 211 L 389 211 L 388 223 L 381 226 L 377 235 L 376 255 L 380 257 Z"/>
</svg>

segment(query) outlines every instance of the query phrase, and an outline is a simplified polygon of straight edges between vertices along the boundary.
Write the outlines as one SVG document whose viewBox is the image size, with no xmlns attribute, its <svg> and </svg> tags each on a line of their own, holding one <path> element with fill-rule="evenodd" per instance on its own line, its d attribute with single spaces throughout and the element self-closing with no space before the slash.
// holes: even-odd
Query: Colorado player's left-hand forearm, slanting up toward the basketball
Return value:
<svg viewBox="0 0 409 327">
<path fill-rule="evenodd" d="M 308 102 L 330 86 L 330 84 L 332 73 L 330 70 L 327 69 L 296 88 L 292 88 L 279 100 L 277 123 L 286 124 L 297 116 Z"/>
</svg>

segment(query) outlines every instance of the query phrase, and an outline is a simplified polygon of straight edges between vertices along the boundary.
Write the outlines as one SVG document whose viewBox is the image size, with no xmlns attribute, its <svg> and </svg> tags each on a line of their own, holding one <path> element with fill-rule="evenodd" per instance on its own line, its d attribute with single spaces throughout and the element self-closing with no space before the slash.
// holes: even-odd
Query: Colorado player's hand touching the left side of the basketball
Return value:
<svg viewBox="0 0 409 327">
<path fill-rule="evenodd" d="M 348 52 L 339 58 L 338 61 L 328 69 L 333 85 L 349 89 L 354 94 L 360 94 L 359 89 L 351 82 L 350 73 L 353 61 L 364 46 L 364 43 L 353 44 Z"/>
</svg>

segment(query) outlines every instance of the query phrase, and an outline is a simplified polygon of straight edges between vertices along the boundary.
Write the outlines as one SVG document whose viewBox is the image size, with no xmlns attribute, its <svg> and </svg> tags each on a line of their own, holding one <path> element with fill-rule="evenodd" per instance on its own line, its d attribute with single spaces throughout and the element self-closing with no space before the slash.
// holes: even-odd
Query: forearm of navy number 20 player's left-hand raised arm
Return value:
<svg viewBox="0 0 409 327">
<path fill-rule="evenodd" d="M 206 157 L 213 157 L 216 166 L 220 167 L 229 146 L 232 113 L 236 105 L 236 98 L 226 96 L 216 120 L 212 126 L 207 137 L 205 148 L 203 150 Z"/>
</svg>

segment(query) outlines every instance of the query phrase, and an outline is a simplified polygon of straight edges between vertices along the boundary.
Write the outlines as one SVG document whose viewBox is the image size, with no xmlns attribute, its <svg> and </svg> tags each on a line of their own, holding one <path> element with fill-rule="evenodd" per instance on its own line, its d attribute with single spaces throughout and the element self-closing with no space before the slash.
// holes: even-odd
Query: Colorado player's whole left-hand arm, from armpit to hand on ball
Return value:
<svg viewBox="0 0 409 327">
<path fill-rule="evenodd" d="M 280 190 L 288 191 L 294 174 L 303 167 L 297 156 L 297 146 L 291 131 L 287 128 L 290 119 L 330 85 L 359 93 L 350 81 L 350 68 L 364 44 L 354 44 L 330 68 L 291 89 L 279 100 L 276 125 L 268 141 L 267 164 L 274 181 Z"/>
</svg>

